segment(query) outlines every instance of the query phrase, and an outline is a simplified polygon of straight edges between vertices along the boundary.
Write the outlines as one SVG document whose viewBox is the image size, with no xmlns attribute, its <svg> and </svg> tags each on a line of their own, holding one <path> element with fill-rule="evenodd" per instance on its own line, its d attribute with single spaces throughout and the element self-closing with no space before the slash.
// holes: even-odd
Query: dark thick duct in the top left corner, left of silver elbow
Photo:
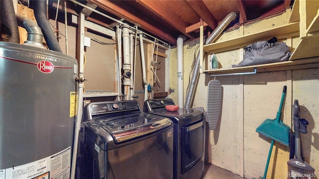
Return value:
<svg viewBox="0 0 319 179">
<path fill-rule="evenodd" d="M 12 0 L 0 0 L 1 41 L 20 43 Z"/>
</svg>

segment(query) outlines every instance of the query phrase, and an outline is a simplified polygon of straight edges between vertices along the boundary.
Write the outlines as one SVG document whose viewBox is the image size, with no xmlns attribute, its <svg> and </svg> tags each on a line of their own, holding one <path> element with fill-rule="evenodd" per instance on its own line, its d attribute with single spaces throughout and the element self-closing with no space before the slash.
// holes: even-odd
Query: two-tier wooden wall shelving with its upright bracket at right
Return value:
<svg viewBox="0 0 319 179">
<path fill-rule="evenodd" d="M 303 9 L 300 11 L 300 9 Z M 203 46 L 208 54 L 225 52 L 243 48 L 251 43 L 267 40 L 272 37 L 291 38 L 300 36 L 300 41 L 294 49 L 289 61 L 247 67 L 205 70 L 209 76 L 240 75 L 243 73 L 258 73 L 279 70 L 293 70 L 319 67 L 319 0 L 295 0 L 289 23 L 261 32 L 248 34 Z M 205 62 L 207 64 L 207 62 Z M 204 64 L 203 64 L 204 65 Z"/>
</svg>

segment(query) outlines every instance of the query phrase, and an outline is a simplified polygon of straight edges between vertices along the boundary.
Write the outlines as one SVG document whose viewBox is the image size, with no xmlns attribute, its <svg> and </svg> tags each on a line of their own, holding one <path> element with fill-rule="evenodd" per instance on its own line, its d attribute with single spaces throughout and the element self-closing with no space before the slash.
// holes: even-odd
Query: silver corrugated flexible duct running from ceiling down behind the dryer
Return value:
<svg viewBox="0 0 319 179">
<path fill-rule="evenodd" d="M 210 36 L 207 38 L 205 45 L 212 43 L 220 34 L 221 32 L 227 27 L 227 25 L 236 19 L 236 12 L 230 12 L 222 21 L 221 23 L 216 27 L 216 29 L 210 34 Z M 192 100 L 194 98 L 194 90 L 195 86 L 198 81 L 199 77 L 199 64 L 200 64 L 200 53 L 198 53 L 196 62 L 194 65 L 192 77 L 190 80 L 190 83 L 188 85 L 188 90 L 186 94 L 186 99 L 185 99 L 185 105 L 184 108 L 190 108 Z"/>
</svg>

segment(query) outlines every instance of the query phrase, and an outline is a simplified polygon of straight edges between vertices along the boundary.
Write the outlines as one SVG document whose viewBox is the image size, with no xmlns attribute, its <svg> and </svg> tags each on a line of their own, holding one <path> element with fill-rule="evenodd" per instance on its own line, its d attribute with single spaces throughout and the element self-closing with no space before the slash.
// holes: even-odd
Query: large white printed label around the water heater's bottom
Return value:
<svg viewBox="0 0 319 179">
<path fill-rule="evenodd" d="M 0 170 L 0 179 L 70 179 L 71 147 L 52 156 Z"/>
</svg>

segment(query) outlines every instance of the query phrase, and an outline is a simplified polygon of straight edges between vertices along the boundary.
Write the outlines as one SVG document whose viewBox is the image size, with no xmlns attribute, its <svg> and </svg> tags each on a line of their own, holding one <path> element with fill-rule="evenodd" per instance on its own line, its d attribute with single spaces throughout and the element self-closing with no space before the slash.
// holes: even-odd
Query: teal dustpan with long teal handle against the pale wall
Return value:
<svg viewBox="0 0 319 179">
<path fill-rule="evenodd" d="M 262 179 L 266 179 L 266 176 L 267 176 L 267 171 L 268 171 L 271 153 L 272 153 L 273 146 L 274 146 L 274 141 L 282 143 L 285 146 L 289 145 L 289 133 L 290 133 L 291 129 L 288 125 L 284 124 L 282 120 L 280 120 L 281 109 L 282 109 L 283 102 L 285 99 L 286 91 L 287 91 L 287 87 L 284 86 L 284 90 L 283 90 L 283 94 L 281 97 L 280 106 L 279 106 L 279 110 L 277 112 L 276 118 L 275 119 L 266 119 L 256 129 L 256 132 L 271 139 L 271 144 L 270 144 L 270 149 L 269 149 L 269 153 L 268 153 L 268 159 L 267 159 L 267 163 L 266 163 L 265 173 L 264 173 L 264 177 Z"/>
</svg>

